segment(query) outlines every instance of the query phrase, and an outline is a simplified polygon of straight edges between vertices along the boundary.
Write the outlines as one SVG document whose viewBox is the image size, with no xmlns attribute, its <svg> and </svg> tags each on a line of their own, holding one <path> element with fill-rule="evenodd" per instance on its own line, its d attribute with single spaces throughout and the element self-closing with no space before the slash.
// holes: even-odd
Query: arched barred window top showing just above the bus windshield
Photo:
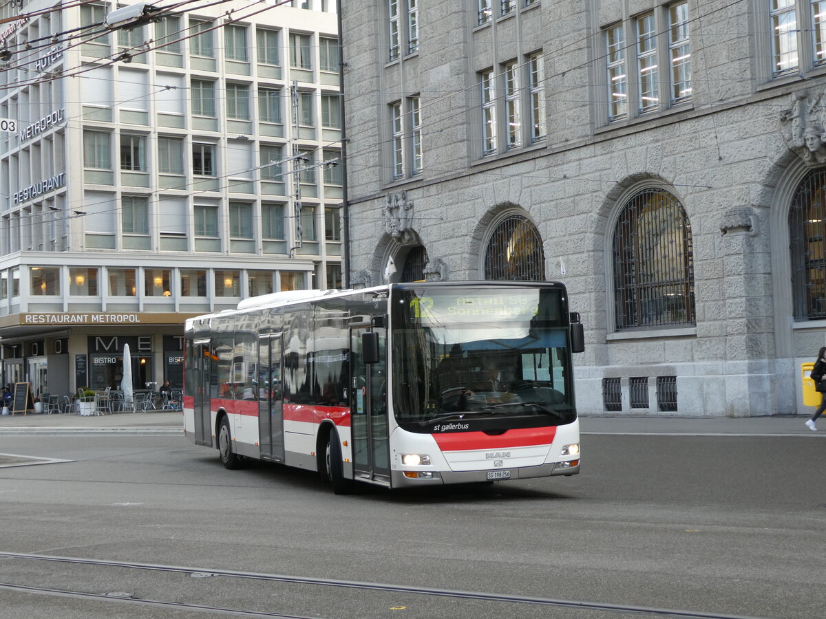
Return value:
<svg viewBox="0 0 826 619">
<path fill-rule="evenodd" d="M 508 215 L 496 226 L 487 243 L 485 279 L 544 281 L 542 238 L 526 217 Z"/>
</svg>

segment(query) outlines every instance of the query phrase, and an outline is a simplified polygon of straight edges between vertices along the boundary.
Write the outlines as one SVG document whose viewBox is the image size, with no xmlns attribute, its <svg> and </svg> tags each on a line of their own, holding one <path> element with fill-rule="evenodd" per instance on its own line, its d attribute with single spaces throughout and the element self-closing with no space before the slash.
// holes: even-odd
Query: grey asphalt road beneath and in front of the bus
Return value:
<svg viewBox="0 0 826 619">
<path fill-rule="evenodd" d="M 582 443 L 571 478 L 338 497 L 183 437 L 0 435 L 65 460 L 0 468 L 0 617 L 823 615 L 826 440 Z"/>
</svg>

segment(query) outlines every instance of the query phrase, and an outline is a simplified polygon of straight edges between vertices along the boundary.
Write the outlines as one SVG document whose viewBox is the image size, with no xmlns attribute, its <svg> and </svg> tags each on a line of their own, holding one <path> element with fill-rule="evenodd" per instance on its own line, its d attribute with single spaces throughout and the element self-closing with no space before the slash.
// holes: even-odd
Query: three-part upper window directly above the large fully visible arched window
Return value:
<svg viewBox="0 0 826 619">
<path fill-rule="evenodd" d="M 683 0 L 605 28 L 609 121 L 663 111 L 691 99 L 689 21 L 688 2 Z M 625 50 L 633 50 L 630 72 Z M 629 108 L 629 101 L 635 105 Z"/>
</svg>

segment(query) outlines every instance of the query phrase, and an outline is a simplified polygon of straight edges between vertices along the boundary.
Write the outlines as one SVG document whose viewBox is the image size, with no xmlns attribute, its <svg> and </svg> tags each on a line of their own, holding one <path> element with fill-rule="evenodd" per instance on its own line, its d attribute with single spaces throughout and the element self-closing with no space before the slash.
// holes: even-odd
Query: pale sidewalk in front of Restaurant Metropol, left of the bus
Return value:
<svg viewBox="0 0 826 619">
<path fill-rule="evenodd" d="M 183 437 L 183 413 L 153 410 L 85 417 L 30 412 L 0 416 L 0 437 L 15 434 L 165 434 Z"/>
</svg>

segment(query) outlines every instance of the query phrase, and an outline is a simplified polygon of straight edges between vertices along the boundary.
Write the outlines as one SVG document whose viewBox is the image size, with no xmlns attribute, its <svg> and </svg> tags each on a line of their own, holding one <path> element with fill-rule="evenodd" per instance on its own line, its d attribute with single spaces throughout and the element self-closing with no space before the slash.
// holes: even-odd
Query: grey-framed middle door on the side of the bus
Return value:
<svg viewBox="0 0 826 619">
<path fill-rule="evenodd" d="M 259 337 L 259 444 L 262 457 L 278 462 L 284 461 L 281 346 L 281 333 Z"/>
</svg>

